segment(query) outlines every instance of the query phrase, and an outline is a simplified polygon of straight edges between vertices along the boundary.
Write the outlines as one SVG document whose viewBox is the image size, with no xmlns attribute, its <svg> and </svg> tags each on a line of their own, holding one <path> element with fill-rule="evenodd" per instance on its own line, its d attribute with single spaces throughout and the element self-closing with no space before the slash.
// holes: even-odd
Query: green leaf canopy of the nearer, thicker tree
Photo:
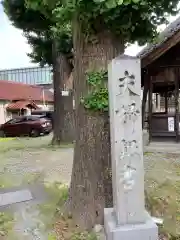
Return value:
<svg viewBox="0 0 180 240">
<path fill-rule="evenodd" d="M 144 44 L 156 37 L 157 26 L 178 12 L 178 0 L 26 0 L 27 6 L 53 9 L 58 26 L 73 21 L 78 14 L 86 36 L 110 31 L 125 43 Z"/>
</svg>

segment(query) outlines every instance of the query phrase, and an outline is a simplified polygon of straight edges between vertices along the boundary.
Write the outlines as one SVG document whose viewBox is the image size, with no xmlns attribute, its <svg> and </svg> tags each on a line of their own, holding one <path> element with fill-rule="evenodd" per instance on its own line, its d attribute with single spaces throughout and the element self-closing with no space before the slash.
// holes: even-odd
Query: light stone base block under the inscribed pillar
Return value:
<svg viewBox="0 0 180 240">
<path fill-rule="evenodd" d="M 113 208 L 104 209 L 104 228 L 106 240 L 158 240 L 158 227 L 147 214 L 144 224 L 116 226 Z"/>
</svg>

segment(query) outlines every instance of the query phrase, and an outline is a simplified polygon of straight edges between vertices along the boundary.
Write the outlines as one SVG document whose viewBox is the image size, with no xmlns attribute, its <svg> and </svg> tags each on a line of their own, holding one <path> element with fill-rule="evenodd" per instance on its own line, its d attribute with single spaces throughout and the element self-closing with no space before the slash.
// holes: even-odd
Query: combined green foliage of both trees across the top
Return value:
<svg viewBox="0 0 180 240">
<path fill-rule="evenodd" d="M 72 57 L 70 21 L 78 13 L 83 32 L 89 39 L 101 31 L 121 36 L 124 43 L 140 45 L 156 37 L 157 26 L 177 13 L 178 0 L 3 0 L 15 27 L 24 31 L 32 47 L 33 62 L 52 64 L 52 36 L 57 34 L 58 49 Z"/>
</svg>

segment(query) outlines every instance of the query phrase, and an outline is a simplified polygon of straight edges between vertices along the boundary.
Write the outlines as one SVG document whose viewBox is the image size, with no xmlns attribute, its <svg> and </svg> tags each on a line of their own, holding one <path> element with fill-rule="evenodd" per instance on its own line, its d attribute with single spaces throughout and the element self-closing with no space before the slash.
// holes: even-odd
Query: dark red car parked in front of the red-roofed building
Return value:
<svg viewBox="0 0 180 240">
<path fill-rule="evenodd" d="M 2 124 L 0 136 L 38 137 L 41 134 L 49 134 L 52 131 L 52 123 L 44 116 L 21 116 Z"/>
</svg>

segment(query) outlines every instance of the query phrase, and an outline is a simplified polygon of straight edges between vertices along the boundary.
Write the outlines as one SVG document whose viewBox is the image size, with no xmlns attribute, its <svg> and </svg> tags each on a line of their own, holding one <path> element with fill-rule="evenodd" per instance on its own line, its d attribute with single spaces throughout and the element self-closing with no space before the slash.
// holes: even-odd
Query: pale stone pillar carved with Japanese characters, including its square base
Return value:
<svg viewBox="0 0 180 240">
<path fill-rule="evenodd" d="M 108 68 L 113 209 L 105 209 L 107 240 L 157 240 L 145 211 L 140 59 L 121 55 Z"/>
</svg>

